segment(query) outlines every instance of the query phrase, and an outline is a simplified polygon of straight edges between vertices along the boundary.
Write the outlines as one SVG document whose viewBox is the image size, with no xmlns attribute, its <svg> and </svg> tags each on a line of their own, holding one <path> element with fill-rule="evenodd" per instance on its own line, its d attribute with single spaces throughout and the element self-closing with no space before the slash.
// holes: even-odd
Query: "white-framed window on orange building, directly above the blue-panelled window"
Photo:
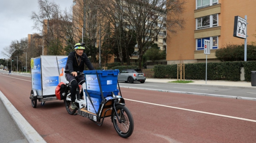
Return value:
<svg viewBox="0 0 256 143">
<path fill-rule="evenodd" d="M 218 26 L 218 14 L 196 18 L 196 29 L 205 29 Z"/>
</svg>

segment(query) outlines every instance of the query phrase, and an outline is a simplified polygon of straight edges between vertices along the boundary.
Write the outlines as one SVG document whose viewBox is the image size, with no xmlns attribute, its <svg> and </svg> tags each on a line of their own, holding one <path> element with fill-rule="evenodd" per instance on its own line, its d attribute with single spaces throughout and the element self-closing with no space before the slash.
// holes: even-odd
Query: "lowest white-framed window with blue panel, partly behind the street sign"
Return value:
<svg viewBox="0 0 256 143">
<path fill-rule="evenodd" d="M 204 40 L 210 40 L 210 49 L 218 49 L 218 36 L 196 39 L 196 50 L 203 50 Z"/>
</svg>

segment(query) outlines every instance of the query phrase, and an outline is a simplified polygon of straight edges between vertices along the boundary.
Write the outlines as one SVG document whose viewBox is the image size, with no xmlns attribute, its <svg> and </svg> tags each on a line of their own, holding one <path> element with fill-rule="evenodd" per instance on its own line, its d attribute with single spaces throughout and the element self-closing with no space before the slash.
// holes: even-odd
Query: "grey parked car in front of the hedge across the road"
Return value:
<svg viewBox="0 0 256 143">
<path fill-rule="evenodd" d="M 144 83 L 146 80 L 146 76 L 141 69 L 123 69 L 121 72 L 119 72 L 117 80 L 129 83 Z"/>
</svg>

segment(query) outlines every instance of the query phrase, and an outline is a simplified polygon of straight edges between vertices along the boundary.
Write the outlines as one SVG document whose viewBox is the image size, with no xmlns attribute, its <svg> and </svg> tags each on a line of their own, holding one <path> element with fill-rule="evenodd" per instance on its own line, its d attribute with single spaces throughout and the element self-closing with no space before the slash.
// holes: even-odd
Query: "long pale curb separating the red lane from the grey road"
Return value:
<svg viewBox="0 0 256 143">
<path fill-rule="evenodd" d="M 256 98 L 251 98 L 251 97 L 237 97 L 237 96 L 218 95 L 218 94 L 206 94 L 206 93 L 191 93 L 191 92 L 172 91 L 172 90 L 159 90 L 159 89 L 147 89 L 147 88 L 128 87 L 128 86 L 120 86 L 120 87 L 131 88 L 131 89 L 151 90 L 151 91 L 166 92 L 166 93 L 183 93 L 183 94 L 193 94 L 193 95 L 209 96 L 209 97 L 222 97 L 222 98 L 230 98 L 230 99 L 241 99 L 241 100 L 253 100 L 253 101 L 256 101 Z"/>
</svg>

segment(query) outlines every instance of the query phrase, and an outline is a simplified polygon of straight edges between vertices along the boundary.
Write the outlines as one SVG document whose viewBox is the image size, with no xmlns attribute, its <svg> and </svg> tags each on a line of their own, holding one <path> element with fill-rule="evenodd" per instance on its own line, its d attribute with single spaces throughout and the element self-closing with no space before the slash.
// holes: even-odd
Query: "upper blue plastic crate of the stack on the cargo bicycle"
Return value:
<svg viewBox="0 0 256 143">
<path fill-rule="evenodd" d="M 87 91 L 98 91 L 100 92 L 100 87 L 96 75 L 96 70 L 83 71 L 85 74 L 85 81 Z M 117 77 L 119 70 L 97 70 L 102 91 L 113 91 L 117 89 Z"/>
</svg>

